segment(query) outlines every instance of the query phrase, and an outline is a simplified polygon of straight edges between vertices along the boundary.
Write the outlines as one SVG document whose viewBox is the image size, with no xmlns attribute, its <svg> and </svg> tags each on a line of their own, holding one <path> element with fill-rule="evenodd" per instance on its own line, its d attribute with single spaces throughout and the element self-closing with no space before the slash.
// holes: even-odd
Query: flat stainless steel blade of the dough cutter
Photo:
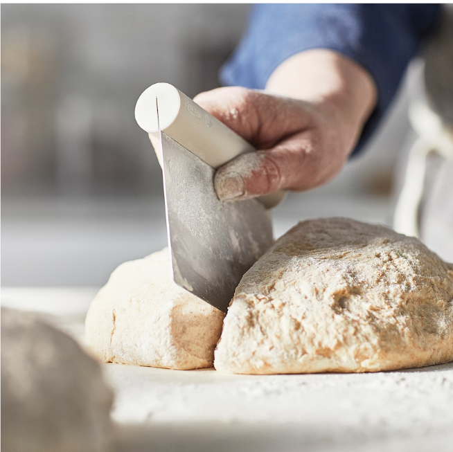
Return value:
<svg viewBox="0 0 453 452">
<path fill-rule="evenodd" d="M 211 166 L 161 132 L 168 243 L 175 282 L 221 311 L 242 275 L 272 245 L 269 210 L 222 202 Z"/>
</svg>

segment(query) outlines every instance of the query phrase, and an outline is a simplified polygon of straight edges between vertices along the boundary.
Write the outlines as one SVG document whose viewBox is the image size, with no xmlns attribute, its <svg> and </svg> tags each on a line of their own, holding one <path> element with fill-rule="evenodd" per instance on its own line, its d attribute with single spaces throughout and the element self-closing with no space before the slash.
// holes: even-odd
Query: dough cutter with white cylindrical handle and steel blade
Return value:
<svg viewBox="0 0 453 452">
<path fill-rule="evenodd" d="M 143 91 L 135 118 L 159 140 L 175 282 L 227 312 L 242 275 L 274 242 L 270 208 L 284 192 L 220 201 L 215 170 L 255 149 L 171 84 Z"/>
</svg>

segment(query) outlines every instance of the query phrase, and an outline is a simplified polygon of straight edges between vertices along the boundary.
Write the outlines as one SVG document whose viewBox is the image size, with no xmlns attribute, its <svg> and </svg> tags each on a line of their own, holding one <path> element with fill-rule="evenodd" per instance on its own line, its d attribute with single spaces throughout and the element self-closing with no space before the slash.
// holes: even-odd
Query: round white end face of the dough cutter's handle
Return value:
<svg viewBox="0 0 453 452">
<path fill-rule="evenodd" d="M 169 127 L 181 109 L 179 91 L 169 83 L 155 83 L 145 89 L 135 106 L 135 120 L 148 134 L 159 132 L 157 125 L 156 98 L 159 105 L 161 130 Z"/>
</svg>

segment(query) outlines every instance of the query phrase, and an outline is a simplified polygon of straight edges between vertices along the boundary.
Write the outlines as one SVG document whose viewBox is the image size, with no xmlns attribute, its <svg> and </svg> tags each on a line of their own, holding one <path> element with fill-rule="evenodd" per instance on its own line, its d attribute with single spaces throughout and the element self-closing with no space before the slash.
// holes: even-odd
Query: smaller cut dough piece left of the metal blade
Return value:
<svg viewBox="0 0 453 452">
<path fill-rule="evenodd" d="M 165 248 L 114 270 L 91 302 L 85 334 L 106 363 L 209 368 L 223 318 L 175 283 Z"/>
</svg>

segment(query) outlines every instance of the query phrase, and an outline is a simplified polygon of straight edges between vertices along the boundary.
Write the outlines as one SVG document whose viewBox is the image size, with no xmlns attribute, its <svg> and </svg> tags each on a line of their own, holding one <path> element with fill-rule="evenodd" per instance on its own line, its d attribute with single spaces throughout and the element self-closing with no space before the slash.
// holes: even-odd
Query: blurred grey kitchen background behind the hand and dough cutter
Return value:
<svg viewBox="0 0 453 452">
<path fill-rule="evenodd" d="M 1 6 L 3 286 L 100 286 L 121 262 L 166 246 L 161 170 L 135 102 L 155 82 L 190 97 L 218 87 L 248 12 L 240 4 Z M 413 66 L 366 152 L 327 186 L 276 208 L 276 236 L 311 217 L 391 224 L 396 168 L 414 140 Z"/>
</svg>

